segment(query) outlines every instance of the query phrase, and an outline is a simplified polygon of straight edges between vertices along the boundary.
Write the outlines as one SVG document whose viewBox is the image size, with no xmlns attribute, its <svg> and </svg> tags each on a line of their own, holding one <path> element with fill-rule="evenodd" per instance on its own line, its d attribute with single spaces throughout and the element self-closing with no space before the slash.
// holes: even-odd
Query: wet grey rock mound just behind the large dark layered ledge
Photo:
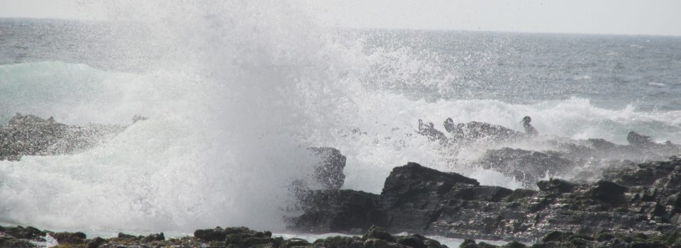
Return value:
<svg viewBox="0 0 681 248">
<path fill-rule="evenodd" d="M 487 150 L 477 162 L 485 169 L 500 171 L 521 181 L 525 187 L 532 187 L 539 179 L 555 176 L 575 167 L 569 159 L 555 154 L 534 152 L 504 147 Z"/>
</svg>

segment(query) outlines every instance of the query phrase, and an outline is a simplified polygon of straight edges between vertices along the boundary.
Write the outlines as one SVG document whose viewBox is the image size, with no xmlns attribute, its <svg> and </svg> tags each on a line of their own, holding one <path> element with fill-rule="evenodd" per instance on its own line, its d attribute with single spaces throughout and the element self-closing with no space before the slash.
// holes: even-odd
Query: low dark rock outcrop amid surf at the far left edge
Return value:
<svg viewBox="0 0 681 248">
<path fill-rule="evenodd" d="M 17 113 L 0 128 L 0 160 L 82 152 L 124 129 L 121 125 L 65 125 L 53 118 Z"/>
</svg>

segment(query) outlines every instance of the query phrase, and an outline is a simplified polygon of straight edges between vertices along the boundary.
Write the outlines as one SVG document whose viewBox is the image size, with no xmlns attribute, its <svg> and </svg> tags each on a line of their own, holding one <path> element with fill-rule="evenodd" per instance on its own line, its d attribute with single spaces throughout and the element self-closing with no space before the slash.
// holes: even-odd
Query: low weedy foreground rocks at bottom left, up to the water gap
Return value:
<svg viewBox="0 0 681 248">
<path fill-rule="evenodd" d="M 272 232 L 258 232 L 247 227 L 216 227 L 196 230 L 194 237 L 166 239 L 163 233 L 147 236 L 119 234 L 118 237 L 87 239 L 82 232 L 40 231 L 33 227 L 0 227 L 1 248 L 45 247 L 45 237 L 33 237 L 17 232 L 40 232 L 57 237 L 55 248 L 137 248 L 137 247 L 230 247 L 230 248 L 448 248 L 435 239 L 421 235 L 391 235 L 381 227 L 369 227 L 363 236 L 327 237 L 309 242 L 306 239 L 272 237 Z M 41 242 L 43 242 L 41 244 Z"/>
</svg>

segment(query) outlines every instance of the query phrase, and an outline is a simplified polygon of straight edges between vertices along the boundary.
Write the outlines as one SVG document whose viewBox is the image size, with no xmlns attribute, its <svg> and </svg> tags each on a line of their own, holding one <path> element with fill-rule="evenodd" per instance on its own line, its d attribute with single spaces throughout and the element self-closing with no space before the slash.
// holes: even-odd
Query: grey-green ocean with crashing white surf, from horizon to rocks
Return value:
<svg viewBox="0 0 681 248">
<path fill-rule="evenodd" d="M 522 131 L 530 115 L 542 137 L 681 143 L 679 37 L 356 30 L 283 4 L 188 5 L 0 19 L 0 123 L 149 118 L 87 152 L 0 161 L 0 221 L 282 231 L 310 146 L 348 157 L 343 188 L 379 193 L 406 162 L 520 187 L 468 166 L 489 147 L 455 153 L 414 135 L 419 119 Z"/>
</svg>

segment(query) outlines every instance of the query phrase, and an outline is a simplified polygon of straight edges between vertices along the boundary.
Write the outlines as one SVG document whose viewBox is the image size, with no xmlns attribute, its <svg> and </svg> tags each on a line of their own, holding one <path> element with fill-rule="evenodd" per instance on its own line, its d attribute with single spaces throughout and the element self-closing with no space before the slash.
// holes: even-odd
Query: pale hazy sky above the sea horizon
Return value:
<svg viewBox="0 0 681 248">
<path fill-rule="evenodd" d="M 0 17 L 82 18 L 77 1 L 0 0 Z M 681 36 L 681 0 L 292 0 L 325 26 Z"/>
</svg>

